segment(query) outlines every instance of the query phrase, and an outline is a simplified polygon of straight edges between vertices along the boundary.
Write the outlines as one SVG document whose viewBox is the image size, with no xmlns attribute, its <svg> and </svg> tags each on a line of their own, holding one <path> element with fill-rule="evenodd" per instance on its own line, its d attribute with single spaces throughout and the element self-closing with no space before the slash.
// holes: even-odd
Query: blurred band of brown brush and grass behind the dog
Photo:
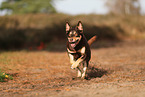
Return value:
<svg viewBox="0 0 145 97">
<path fill-rule="evenodd" d="M 144 16 L 29 14 L 0 17 L 0 48 L 22 48 L 63 41 L 65 22 L 71 25 L 81 20 L 87 38 L 124 40 L 145 37 Z"/>
</svg>

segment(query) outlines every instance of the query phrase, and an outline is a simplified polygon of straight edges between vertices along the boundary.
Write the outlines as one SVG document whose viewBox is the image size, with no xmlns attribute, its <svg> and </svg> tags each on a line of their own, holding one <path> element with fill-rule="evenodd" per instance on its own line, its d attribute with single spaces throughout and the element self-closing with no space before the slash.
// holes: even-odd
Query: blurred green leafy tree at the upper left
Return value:
<svg viewBox="0 0 145 97">
<path fill-rule="evenodd" d="M 12 14 L 56 13 L 52 0 L 5 0 L 0 10 L 5 9 Z"/>
</svg>

